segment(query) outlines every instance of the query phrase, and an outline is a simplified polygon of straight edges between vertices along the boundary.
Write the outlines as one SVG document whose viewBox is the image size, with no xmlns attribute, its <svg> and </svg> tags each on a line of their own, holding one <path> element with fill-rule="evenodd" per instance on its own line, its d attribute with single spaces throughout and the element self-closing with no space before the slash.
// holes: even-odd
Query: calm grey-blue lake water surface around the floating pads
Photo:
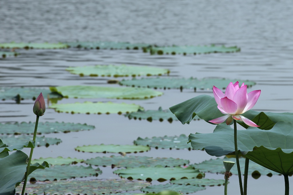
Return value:
<svg viewBox="0 0 293 195">
<path fill-rule="evenodd" d="M 1 0 L 0 42 L 115 41 L 158 45 L 238 46 L 239 53 L 151 56 L 131 50 L 19 50 L 20 56 L 0 59 L 0 85 L 11 86 L 109 86 L 103 77 L 79 77 L 65 68 L 96 64 L 149 65 L 168 68 L 171 77 L 220 77 L 255 81 L 248 91 L 261 89 L 254 110 L 293 112 L 293 4 L 284 1 L 210 0 Z M 122 78 L 121 78 L 122 79 Z M 111 85 L 111 86 L 116 86 Z M 212 91 L 161 90 L 163 96 L 148 100 L 63 99 L 58 103 L 112 101 L 136 103 L 145 110 L 167 109 Z M 35 121 L 33 100 L 0 101 L 0 122 Z M 179 121 L 128 120 L 123 115 L 71 115 L 47 109 L 40 122 L 80 122 L 96 129 L 68 134 L 46 134 L 62 143 L 35 149 L 33 158 L 93 158 L 112 154 L 79 153 L 76 146 L 89 144 L 132 144 L 137 137 L 173 136 L 214 129 L 202 120 L 182 125 Z M 24 150 L 28 153 L 28 150 Z M 133 154 L 132 154 L 133 155 Z M 212 156 L 204 151 L 151 149 L 135 155 L 173 157 L 199 163 Z M 98 178 L 117 178 L 112 169 L 101 168 Z M 223 175 L 206 174 L 223 179 Z M 248 194 L 283 194 L 283 176 L 248 177 Z M 292 186 L 292 178 L 289 178 Z M 153 184 L 158 182 L 153 181 Z M 196 194 L 221 194 L 224 187 L 207 187 Z M 229 194 L 239 194 L 238 177 L 233 175 Z M 291 190 L 292 193 L 292 190 Z"/>
</svg>

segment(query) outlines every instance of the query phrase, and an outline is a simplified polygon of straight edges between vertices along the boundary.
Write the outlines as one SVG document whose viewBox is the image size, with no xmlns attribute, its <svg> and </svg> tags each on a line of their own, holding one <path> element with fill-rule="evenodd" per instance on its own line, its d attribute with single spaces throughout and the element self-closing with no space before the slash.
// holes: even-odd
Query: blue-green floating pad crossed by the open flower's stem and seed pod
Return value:
<svg viewBox="0 0 293 195">
<path fill-rule="evenodd" d="M 194 164 L 193 166 L 197 169 L 199 169 L 202 172 L 210 172 L 210 173 L 220 173 L 224 174 L 224 164 L 223 161 L 234 161 L 236 162 L 235 158 L 216 158 L 216 159 L 210 159 L 207 161 L 203 161 L 199 164 Z M 245 167 L 245 158 L 239 158 L 240 163 L 240 169 L 242 174 L 244 175 L 244 167 Z M 231 168 L 231 172 L 234 175 L 238 175 L 237 166 L 233 166 Z M 249 175 L 259 174 L 259 175 L 280 175 L 279 173 L 275 171 L 271 171 L 265 167 L 262 167 L 258 165 L 257 163 L 253 161 L 249 161 L 249 169 L 248 169 Z"/>
</svg>

